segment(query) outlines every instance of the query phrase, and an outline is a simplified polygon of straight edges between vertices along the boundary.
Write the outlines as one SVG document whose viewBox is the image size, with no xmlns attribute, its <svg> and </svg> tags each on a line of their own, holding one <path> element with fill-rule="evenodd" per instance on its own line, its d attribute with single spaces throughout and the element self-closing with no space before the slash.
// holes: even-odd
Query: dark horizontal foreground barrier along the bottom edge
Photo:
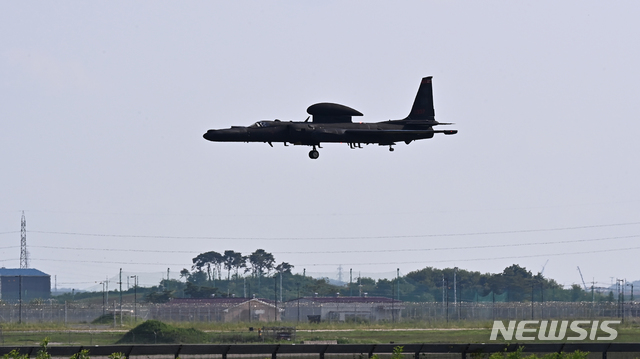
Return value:
<svg viewBox="0 0 640 359">
<path fill-rule="evenodd" d="M 481 354 L 514 352 L 522 348 L 527 353 L 561 353 L 577 350 L 590 353 L 601 353 L 602 359 L 608 359 L 611 354 L 627 354 L 620 357 L 637 357 L 640 354 L 640 343 L 557 343 L 557 344 L 256 344 L 256 345 L 104 345 L 104 346 L 51 346 L 48 348 L 52 357 L 71 357 L 82 350 L 87 350 L 90 356 L 106 357 L 112 353 L 123 353 L 127 358 L 131 356 L 173 356 L 185 358 L 189 356 L 217 357 L 228 359 L 228 356 L 271 356 L 271 359 L 280 357 L 309 357 L 318 355 L 319 359 L 325 359 L 331 355 L 351 355 L 352 357 L 368 357 L 374 354 L 388 355 L 394 348 L 402 346 L 404 353 L 413 355 L 415 359 L 430 357 L 434 354 L 453 354 L 460 359 L 467 356 L 475 358 L 483 357 Z M 0 347 L 0 355 L 8 354 L 17 349 L 21 354 L 34 356 L 39 347 Z M 629 355 L 630 354 L 630 355 Z M 609 358 L 613 359 L 613 358 Z"/>
</svg>

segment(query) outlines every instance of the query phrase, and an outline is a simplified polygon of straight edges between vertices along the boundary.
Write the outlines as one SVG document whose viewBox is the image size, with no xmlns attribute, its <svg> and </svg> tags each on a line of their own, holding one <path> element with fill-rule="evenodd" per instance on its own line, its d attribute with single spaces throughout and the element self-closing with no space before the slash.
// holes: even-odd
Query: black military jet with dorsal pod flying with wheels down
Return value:
<svg viewBox="0 0 640 359">
<path fill-rule="evenodd" d="M 322 148 L 322 142 L 347 143 L 350 148 L 362 148 L 363 143 L 377 143 L 389 146 L 389 151 L 393 151 L 396 142 L 409 144 L 415 140 L 432 138 L 436 133 L 458 133 L 457 130 L 433 129 L 434 126 L 451 123 L 435 120 L 431 77 L 422 79 L 411 112 L 402 120 L 354 123 L 351 118 L 362 116 L 362 113 L 335 103 L 311 105 L 307 113 L 313 116 L 311 122 L 311 116 L 304 122 L 258 121 L 248 127 L 232 126 L 223 130 L 209 130 L 203 137 L 216 142 L 264 142 L 271 147 L 272 142 L 283 142 L 285 146 L 287 143 L 312 146 L 309 157 L 316 159 L 320 156 L 316 147 Z"/>
</svg>

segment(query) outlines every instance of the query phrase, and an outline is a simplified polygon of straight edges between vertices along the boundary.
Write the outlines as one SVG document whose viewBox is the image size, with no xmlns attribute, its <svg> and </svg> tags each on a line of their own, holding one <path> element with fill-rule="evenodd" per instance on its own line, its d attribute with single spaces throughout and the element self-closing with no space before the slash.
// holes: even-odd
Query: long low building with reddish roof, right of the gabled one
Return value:
<svg viewBox="0 0 640 359">
<path fill-rule="evenodd" d="M 399 320 L 402 301 L 386 297 L 302 297 L 285 303 L 286 321 Z"/>
</svg>

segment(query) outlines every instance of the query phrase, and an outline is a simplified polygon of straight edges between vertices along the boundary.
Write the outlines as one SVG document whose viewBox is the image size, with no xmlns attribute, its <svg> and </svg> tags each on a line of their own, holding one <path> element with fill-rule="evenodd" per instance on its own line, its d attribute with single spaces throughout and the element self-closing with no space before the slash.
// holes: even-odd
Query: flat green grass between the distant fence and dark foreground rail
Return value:
<svg viewBox="0 0 640 359">
<path fill-rule="evenodd" d="M 296 343 L 316 340 L 335 340 L 338 343 L 487 343 L 491 322 L 460 323 L 172 323 L 176 327 L 195 327 L 207 333 L 208 343 L 258 343 L 258 326 L 295 326 Z M 440 325 L 438 325 L 440 324 Z M 444 324 L 444 325 L 442 325 Z M 256 330 L 249 331 L 253 325 Z M 49 337 L 51 345 L 106 345 L 114 344 L 131 327 L 109 326 L 51 326 L 0 325 L 0 345 L 37 345 Z M 616 327 L 615 342 L 639 342 L 640 325 L 624 324 Z M 602 333 L 606 335 L 605 333 Z M 498 340 L 497 342 L 504 342 Z"/>
</svg>

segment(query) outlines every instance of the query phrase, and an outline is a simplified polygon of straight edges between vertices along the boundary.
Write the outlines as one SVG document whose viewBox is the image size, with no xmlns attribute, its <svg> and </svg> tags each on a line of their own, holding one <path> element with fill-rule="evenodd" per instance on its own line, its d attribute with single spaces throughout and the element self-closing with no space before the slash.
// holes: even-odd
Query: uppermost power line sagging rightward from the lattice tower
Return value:
<svg viewBox="0 0 640 359">
<path fill-rule="evenodd" d="M 88 236 L 88 237 L 115 237 L 115 238 L 163 238 L 163 239 L 206 239 L 206 240 L 263 240 L 263 241 L 307 241 L 307 240 L 354 240 L 354 239 L 390 239 L 390 238 L 425 238 L 425 237 L 462 237 L 462 236 L 478 236 L 489 234 L 515 234 L 515 233 L 535 233 L 535 232 L 555 232 L 588 228 L 604 228 L 638 225 L 640 222 L 615 223 L 615 224 L 596 224 L 588 226 L 575 227 L 557 227 L 543 229 L 519 229 L 510 231 L 490 231 L 490 232 L 467 232 L 467 233 L 444 233 L 444 234 L 415 234 L 415 235 L 388 235 L 388 236 L 353 236 L 353 237 L 210 237 L 210 236 L 155 236 L 155 235 L 135 235 L 135 234 L 105 234 L 105 233 L 80 233 L 80 232 L 56 232 L 56 231 L 29 231 L 31 233 L 41 234 L 62 234 L 69 236 Z"/>
</svg>

